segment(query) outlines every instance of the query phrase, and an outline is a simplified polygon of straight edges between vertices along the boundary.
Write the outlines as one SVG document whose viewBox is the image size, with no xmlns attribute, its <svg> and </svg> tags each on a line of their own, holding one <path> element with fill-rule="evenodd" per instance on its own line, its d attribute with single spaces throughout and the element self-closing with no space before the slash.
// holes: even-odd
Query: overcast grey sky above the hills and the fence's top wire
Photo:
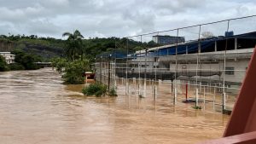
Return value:
<svg viewBox="0 0 256 144">
<path fill-rule="evenodd" d="M 0 34 L 126 37 L 256 14 L 251 0 L 0 0 Z"/>
</svg>

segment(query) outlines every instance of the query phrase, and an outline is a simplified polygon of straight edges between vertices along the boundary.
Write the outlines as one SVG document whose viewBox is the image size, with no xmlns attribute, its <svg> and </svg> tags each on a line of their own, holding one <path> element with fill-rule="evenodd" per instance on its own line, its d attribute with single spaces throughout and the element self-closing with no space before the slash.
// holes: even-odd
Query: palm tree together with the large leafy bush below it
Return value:
<svg viewBox="0 0 256 144">
<path fill-rule="evenodd" d="M 84 58 L 81 33 L 76 30 L 73 33 L 65 32 L 67 37 L 64 53 L 66 58 L 52 59 L 52 66 L 62 74 L 64 84 L 84 84 L 84 72 L 90 70 L 90 61 Z"/>
</svg>

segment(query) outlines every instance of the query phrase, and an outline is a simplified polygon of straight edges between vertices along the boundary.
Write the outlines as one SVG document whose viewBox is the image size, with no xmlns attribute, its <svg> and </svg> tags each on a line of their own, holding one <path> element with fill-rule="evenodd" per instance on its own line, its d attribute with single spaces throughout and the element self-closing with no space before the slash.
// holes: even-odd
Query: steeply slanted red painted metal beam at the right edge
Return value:
<svg viewBox="0 0 256 144">
<path fill-rule="evenodd" d="M 224 137 L 256 130 L 256 51 L 247 67 L 240 94 L 230 117 Z M 256 135 L 255 135 L 256 137 Z"/>
</svg>

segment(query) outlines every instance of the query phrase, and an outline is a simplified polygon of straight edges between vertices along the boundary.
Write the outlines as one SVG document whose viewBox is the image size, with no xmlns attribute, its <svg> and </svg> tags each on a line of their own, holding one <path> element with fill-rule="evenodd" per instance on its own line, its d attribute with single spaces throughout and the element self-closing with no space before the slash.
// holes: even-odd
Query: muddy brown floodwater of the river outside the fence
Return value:
<svg viewBox="0 0 256 144">
<path fill-rule="evenodd" d="M 0 72 L 0 143 L 196 143 L 221 137 L 229 116 L 125 96 L 85 97 L 57 72 Z"/>
</svg>

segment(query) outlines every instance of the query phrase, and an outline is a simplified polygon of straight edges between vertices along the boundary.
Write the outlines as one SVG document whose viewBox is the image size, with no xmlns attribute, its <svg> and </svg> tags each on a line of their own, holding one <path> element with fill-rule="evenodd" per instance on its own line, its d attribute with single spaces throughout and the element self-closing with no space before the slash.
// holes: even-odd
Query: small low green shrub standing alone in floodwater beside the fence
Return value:
<svg viewBox="0 0 256 144">
<path fill-rule="evenodd" d="M 89 86 L 84 87 L 82 89 L 82 93 L 84 95 L 96 95 L 96 96 L 102 96 L 105 95 L 107 92 L 107 85 L 95 83 L 90 84 Z"/>
</svg>

